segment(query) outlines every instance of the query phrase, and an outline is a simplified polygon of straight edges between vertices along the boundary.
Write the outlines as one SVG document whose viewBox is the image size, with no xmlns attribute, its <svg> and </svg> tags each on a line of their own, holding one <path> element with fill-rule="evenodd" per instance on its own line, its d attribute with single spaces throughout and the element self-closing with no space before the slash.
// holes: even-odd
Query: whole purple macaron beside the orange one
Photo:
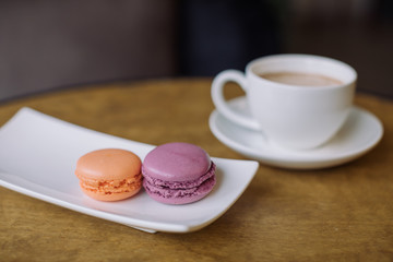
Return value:
<svg viewBox="0 0 393 262">
<path fill-rule="evenodd" d="M 188 204 L 209 194 L 215 182 L 215 164 L 201 147 L 168 143 L 151 151 L 142 164 L 143 187 L 165 204 Z"/>
</svg>

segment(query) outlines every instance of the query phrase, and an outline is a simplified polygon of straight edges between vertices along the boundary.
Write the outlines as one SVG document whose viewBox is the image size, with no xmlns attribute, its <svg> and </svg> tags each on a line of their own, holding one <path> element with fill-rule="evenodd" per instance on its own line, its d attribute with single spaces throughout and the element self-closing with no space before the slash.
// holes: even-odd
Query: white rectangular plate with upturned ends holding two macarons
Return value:
<svg viewBox="0 0 393 262">
<path fill-rule="evenodd" d="M 192 204 L 162 204 L 143 190 L 128 200 L 99 202 L 82 193 L 74 168 L 83 154 L 108 147 L 132 151 L 142 160 L 154 148 L 22 108 L 0 129 L 0 186 L 138 229 L 188 233 L 223 215 L 259 167 L 257 162 L 212 157 L 217 166 L 217 183 L 206 198 Z"/>
</svg>

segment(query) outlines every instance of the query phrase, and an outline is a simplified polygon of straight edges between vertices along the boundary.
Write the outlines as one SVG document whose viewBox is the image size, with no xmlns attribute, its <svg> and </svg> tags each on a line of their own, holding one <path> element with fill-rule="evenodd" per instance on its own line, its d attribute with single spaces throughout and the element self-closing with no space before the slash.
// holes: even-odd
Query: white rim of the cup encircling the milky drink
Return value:
<svg viewBox="0 0 393 262">
<path fill-rule="evenodd" d="M 343 86 L 352 85 L 357 81 L 357 78 L 358 78 L 356 70 L 343 61 L 336 60 L 334 58 L 317 56 L 317 55 L 306 55 L 306 53 L 277 53 L 277 55 L 270 55 L 270 56 L 253 59 L 246 66 L 246 74 L 251 75 L 252 78 L 258 79 L 259 81 L 267 82 L 269 84 L 275 85 L 275 86 L 288 87 L 288 88 L 305 88 L 305 86 L 302 86 L 302 85 L 283 84 L 283 83 L 263 79 L 253 71 L 253 69 L 257 67 L 257 64 L 260 64 L 263 61 L 266 61 L 266 60 L 274 61 L 274 60 L 284 60 L 284 59 L 309 59 L 309 60 L 313 60 L 313 61 L 318 60 L 320 62 L 325 62 L 325 63 L 326 62 L 334 63 L 337 67 L 345 68 L 345 70 L 347 70 L 347 72 L 350 74 L 349 80 L 345 81 L 342 84 L 318 86 L 318 90 L 340 88 Z M 315 90 L 315 88 L 312 88 L 313 86 L 307 86 L 307 87 L 311 87 L 310 90 Z"/>
</svg>

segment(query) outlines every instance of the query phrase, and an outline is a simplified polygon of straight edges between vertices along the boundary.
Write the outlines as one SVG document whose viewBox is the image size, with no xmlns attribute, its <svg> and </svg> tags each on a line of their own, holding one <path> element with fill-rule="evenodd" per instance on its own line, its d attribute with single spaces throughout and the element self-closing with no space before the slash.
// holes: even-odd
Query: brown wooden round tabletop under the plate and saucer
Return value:
<svg viewBox="0 0 393 262">
<path fill-rule="evenodd" d="M 184 79 L 50 92 L 2 103 L 0 124 L 28 106 L 143 143 L 183 141 L 243 159 L 209 129 L 210 86 Z M 358 94 L 356 105 L 384 124 L 374 150 L 323 170 L 261 165 L 226 214 L 191 234 L 152 235 L 0 188 L 0 261 L 392 261 L 393 103 Z"/>
</svg>

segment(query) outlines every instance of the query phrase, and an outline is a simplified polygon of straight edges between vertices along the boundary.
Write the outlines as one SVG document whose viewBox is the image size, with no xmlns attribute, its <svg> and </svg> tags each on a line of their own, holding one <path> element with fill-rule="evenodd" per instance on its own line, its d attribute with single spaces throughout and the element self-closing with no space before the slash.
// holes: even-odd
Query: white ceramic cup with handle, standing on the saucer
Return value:
<svg viewBox="0 0 393 262">
<path fill-rule="evenodd" d="M 259 74 L 296 72 L 325 75 L 340 84 L 301 86 L 273 82 Z M 274 144 L 308 150 L 329 141 L 343 126 L 353 106 L 356 71 L 348 64 L 311 55 L 275 55 L 248 63 L 246 74 L 238 70 L 221 72 L 212 84 L 216 109 L 228 120 L 260 130 Z M 224 86 L 236 82 L 246 92 L 252 118 L 228 106 Z"/>
</svg>

